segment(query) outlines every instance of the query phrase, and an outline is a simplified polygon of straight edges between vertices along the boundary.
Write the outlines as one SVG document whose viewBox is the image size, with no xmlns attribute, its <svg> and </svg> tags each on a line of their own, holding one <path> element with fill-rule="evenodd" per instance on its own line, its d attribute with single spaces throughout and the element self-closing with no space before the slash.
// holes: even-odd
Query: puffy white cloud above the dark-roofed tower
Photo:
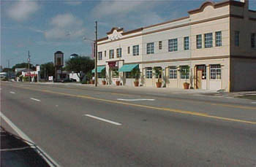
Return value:
<svg viewBox="0 0 256 167">
<path fill-rule="evenodd" d="M 75 39 L 85 34 L 83 20 L 75 18 L 72 14 L 56 15 L 50 21 L 50 28 L 45 31 L 46 39 Z"/>
</svg>

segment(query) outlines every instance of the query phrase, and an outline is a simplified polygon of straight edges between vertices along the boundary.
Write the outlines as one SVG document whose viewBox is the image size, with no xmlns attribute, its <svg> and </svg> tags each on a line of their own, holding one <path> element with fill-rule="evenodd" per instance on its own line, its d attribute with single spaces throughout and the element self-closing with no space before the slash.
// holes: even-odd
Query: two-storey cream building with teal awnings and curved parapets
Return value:
<svg viewBox="0 0 256 167">
<path fill-rule="evenodd" d="M 249 1 L 206 1 L 189 16 L 124 31 L 112 28 L 98 40 L 98 64 L 108 84 L 167 88 L 256 90 L 256 11 Z M 155 75 L 159 69 L 162 74 Z M 100 79 L 99 79 L 100 83 Z"/>
</svg>

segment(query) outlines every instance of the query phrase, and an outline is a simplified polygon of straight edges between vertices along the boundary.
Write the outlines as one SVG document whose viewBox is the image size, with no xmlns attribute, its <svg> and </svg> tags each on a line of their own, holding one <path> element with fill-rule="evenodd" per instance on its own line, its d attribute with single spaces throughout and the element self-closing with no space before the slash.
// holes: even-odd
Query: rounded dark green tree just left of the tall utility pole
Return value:
<svg viewBox="0 0 256 167">
<path fill-rule="evenodd" d="M 78 56 L 66 61 L 64 68 L 69 72 L 78 73 L 78 77 L 82 80 L 85 74 L 94 69 L 94 60 L 87 56 Z"/>
</svg>

